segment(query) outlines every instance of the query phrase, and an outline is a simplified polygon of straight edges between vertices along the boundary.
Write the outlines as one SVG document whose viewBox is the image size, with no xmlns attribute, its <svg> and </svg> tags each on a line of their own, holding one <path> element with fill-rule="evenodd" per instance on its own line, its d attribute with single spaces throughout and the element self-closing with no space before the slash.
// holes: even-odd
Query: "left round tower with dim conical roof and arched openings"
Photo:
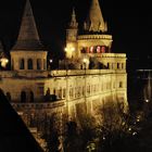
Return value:
<svg viewBox="0 0 152 152">
<path fill-rule="evenodd" d="M 46 71 L 47 51 L 41 45 L 29 0 L 26 0 L 17 41 L 11 50 L 14 71 Z"/>
</svg>

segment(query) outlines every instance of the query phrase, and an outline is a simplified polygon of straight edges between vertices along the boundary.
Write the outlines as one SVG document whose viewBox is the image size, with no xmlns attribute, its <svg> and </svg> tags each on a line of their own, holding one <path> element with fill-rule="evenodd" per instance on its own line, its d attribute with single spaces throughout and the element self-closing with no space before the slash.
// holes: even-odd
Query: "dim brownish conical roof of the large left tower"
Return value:
<svg viewBox="0 0 152 152">
<path fill-rule="evenodd" d="M 13 50 L 41 50 L 43 47 L 39 40 L 33 10 L 29 0 L 26 0 L 22 17 L 20 34 Z"/>
</svg>

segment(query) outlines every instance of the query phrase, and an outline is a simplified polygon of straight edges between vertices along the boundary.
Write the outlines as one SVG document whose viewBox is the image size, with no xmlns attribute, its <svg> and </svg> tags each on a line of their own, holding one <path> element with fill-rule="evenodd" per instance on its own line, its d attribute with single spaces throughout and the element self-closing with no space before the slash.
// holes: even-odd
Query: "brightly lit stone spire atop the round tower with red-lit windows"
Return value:
<svg viewBox="0 0 152 152">
<path fill-rule="evenodd" d="M 106 31 L 100 4 L 98 0 L 92 0 L 88 20 L 84 23 L 85 30 L 89 31 Z"/>
</svg>

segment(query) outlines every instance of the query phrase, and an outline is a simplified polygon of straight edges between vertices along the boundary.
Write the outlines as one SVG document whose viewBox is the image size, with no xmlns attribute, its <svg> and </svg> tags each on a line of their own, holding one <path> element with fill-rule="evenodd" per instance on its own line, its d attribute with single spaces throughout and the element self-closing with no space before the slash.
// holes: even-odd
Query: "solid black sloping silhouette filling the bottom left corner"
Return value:
<svg viewBox="0 0 152 152">
<path fill-rule="evenodd" d="M 1 89 L 0 152 L 43 152 Z"/>
</svg>

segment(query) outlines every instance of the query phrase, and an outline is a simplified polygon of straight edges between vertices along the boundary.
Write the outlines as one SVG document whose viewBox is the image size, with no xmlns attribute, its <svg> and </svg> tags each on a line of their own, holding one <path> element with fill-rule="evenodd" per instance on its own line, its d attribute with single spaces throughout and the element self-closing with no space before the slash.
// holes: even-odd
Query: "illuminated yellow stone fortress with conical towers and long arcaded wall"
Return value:
<svg viewBox="0 0 152 152">
<path fill-rule="evenodd" d="M 66 56 L 59 69 L 50 71 L 27 0 L 16 43 L 10 50 L 11 71 L 0 72 L 0 88 L 22 113 L 46 111 L 76 118 L 80 113 L 93 114 L 106 102 L 127 105 L 126 54 L 111 52 L 113 39 L 106 31 L 98 0 L 92 0 L 81 33 L 73 10 Z"/>
</svg>

